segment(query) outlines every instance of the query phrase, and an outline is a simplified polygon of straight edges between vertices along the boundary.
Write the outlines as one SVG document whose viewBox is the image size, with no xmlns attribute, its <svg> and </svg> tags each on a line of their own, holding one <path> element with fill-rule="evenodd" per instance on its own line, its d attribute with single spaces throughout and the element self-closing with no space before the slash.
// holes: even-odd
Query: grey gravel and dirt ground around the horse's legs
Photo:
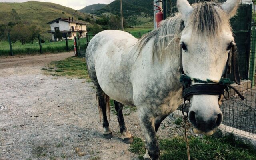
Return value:
<svg viewBox="0 0 256 160">
<path fill-rule="evenodd" d="M 121 141 L 113 113 L 114 138 L 103 138 L 92 83 L 42 74 L 49 62 L 69 56 L 73 53 L 1 58 L 0 159 L 136 159 L 129 144 Z M 124 119 L 132 135 L 143 138 L 138 113 Z M 182 135 L 172 119 L 160 126 L 160 138 Z"/>
</svg>

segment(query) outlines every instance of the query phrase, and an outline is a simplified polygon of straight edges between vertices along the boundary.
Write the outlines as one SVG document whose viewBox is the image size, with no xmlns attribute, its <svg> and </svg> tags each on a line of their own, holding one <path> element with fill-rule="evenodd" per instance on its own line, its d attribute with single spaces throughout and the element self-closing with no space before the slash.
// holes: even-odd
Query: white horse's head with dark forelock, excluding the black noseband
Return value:
<svg viewBox="0 0 256 160">
<path fill-rule="evenodd" d="M 235 15 L 239 1 L 190 6 L 187 0 L 178 0 L 178 10 L 184 20 L 180 38 L 182 64 L 190 78 L 216 82 L 222 78 L 228 52 L 234 43 L 229 19 Z M 218 95 L 192 95 L 190 102 L 188 118 L 194 132 L 211 135 L 222 122 Z"/>
</svg>

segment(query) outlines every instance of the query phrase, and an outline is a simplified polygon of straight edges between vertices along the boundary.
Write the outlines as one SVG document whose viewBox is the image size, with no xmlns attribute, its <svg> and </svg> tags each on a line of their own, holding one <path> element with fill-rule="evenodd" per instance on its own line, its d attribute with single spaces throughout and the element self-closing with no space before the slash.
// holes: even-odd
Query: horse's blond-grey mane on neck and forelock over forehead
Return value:
<svg viewBox="0 0 256 160">
<path fill-rule="evenodd" d="M 215 2 L 200 2 L 193 4 L 192 7 L 194 10 L 186 21 L 186 25 L 198 38 L 206 36 L 212 40 L 222 32 L 224 27 L 228 27 L 231 30 L 229 18 L 219 4 Z M 163 20 L 159 28 L 138 40 L 136 44 L 138 47 L 137 56 L 152 38 L 154 39 L 152 56 L 158 56 L 158 59 L 162 61 L 170 53 L 178 55 L 180 51 L 180 36 L 185 27 L 182 18 L 182 14 L 178 13 L 172 18 Z"/>
</svg>

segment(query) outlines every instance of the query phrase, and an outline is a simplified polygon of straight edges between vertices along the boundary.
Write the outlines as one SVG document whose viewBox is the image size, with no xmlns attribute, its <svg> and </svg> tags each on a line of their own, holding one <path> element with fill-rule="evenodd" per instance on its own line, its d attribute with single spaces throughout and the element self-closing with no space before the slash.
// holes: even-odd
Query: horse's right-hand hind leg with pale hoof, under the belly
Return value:
<svg viewBox="0 0 256 160">
<path fill-rule="evenodd" d="M 132 143 L 133 142 L 132 135 L 127 130 L 125 123 L 124 123 L 124 116 L 123 116 L 123 106 L 124 105 L 115 100 L 114 100 L 114 104 L 115 104 L 115 108 L 116 108 L 116 112 L 117 112 L 117 120 L 119 122 L 120 132 L 122 134 L 122 140 L 125 143 Z"/>
</svg>

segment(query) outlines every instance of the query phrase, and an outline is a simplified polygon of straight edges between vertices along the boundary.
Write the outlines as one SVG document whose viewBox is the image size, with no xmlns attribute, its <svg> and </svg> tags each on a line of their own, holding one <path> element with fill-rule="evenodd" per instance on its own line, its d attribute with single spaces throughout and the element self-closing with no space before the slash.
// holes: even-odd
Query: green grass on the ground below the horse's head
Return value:
<svg viewBox="0 0 256 160">
<path fill-rule="evenodd" d="M 242 140 L 235 140 L 232 134 L 224 138 L 189 136 L 188 139 L 191 160 L 256 160 L 256 150 L 253 146 Z M 138 158 L 143 160 L 144 145 L 144 141 L 135 137 L 129 150 L 138 154 Z M 187 159 L 184 137 L 175 136 L 169 139 L 160 139 L 159 145 L 160 160 Z"/>
</svg>

